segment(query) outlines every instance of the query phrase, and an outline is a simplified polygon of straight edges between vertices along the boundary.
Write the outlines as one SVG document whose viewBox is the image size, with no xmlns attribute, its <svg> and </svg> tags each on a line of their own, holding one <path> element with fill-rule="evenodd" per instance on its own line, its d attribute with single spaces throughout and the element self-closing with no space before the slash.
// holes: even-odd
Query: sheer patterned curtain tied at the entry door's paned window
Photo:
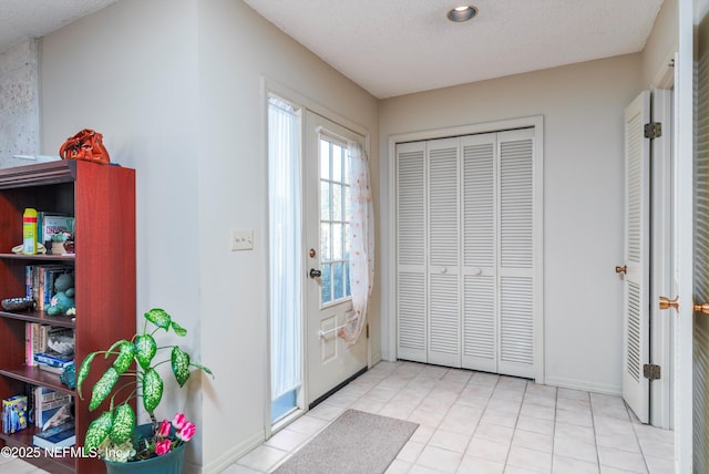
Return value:
<svg viewBox="0 0 709 474">
<path fill-rule="evenodd" d="M 340 331 L 348 343 L 357 342 L 367 321 L 367 306 L 374 281 L 374 212 L 369 183 L 369 163 L 361 144 L 348 143 L 350 203 L 348 240 L 350 244 L 350 288 L 354 315 Z"/>
</svg>

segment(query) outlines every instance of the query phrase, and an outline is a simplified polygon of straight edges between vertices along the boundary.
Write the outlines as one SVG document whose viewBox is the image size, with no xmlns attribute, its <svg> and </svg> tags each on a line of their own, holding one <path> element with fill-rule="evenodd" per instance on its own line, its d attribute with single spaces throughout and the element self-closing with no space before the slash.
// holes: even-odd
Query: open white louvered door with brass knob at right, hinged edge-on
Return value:
<svg viewBox="0 0 709 474">
<path fill-rule="evenodd" d="M 650 93 L 643 92 L 625 111 L 626 218 L 624 282 L 623 398 L 640 422 L 649 421 L 649 159 Z"/>
</svg>

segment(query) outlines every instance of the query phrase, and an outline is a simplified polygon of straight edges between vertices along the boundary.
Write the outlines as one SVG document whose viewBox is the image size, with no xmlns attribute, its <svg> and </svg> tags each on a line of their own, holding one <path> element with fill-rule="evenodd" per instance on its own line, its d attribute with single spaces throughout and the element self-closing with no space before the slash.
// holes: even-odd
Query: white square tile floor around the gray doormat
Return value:
<svg viewBox="0 0 709 474">
<path fill-rule="evenodd" d="M 674 472 L 672 432 L 640 424 L 618 396 L 380 362 L 222 474 L 271 472 L 348 408 L 420 424 L 388 474 Z"/>
</svg>

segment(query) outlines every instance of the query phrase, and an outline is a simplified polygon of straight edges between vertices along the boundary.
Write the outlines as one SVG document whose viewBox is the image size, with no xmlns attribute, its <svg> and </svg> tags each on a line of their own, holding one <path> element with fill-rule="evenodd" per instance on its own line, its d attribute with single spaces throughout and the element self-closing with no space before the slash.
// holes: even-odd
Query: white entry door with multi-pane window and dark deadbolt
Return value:
<svg viewBox="0 0 709 474">
<path fill-rule="evenodd" d="M 367 368 L 367 332 L 353 344 L 338 336 L 352 311 L 349 285 L 348 142 L 363 137 L 306 112 L 306 352 L 308 404 Z"/>
</svg>

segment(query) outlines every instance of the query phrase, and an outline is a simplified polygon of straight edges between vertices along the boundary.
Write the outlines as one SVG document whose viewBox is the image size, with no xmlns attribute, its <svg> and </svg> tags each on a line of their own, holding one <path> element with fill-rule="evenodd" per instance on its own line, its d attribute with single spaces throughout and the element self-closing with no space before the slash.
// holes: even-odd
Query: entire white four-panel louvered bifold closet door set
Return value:
<svg viewBox="0 0 709 474">
<path fill-rule="evenodd" d="M 397 145 L 400 359 L 537 375 L 535 150 L 535 128 Z"/>
</svg>

